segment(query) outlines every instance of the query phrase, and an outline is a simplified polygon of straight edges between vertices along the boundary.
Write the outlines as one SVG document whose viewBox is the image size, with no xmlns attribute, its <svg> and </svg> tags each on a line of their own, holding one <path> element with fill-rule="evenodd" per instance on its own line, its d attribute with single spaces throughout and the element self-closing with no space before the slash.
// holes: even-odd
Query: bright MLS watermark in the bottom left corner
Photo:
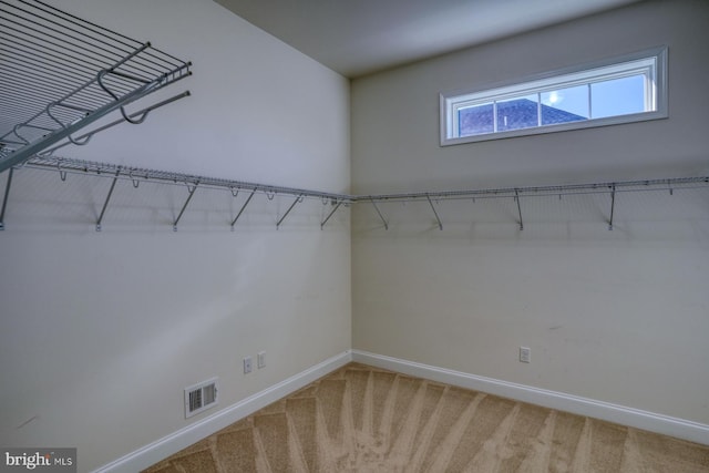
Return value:
<svg viewBox="0 0 709 473">
<path fill-rule="evenodd" d="M 76 473 L 76 449 L 1 449 L 0 473 Z"/>
</svg>

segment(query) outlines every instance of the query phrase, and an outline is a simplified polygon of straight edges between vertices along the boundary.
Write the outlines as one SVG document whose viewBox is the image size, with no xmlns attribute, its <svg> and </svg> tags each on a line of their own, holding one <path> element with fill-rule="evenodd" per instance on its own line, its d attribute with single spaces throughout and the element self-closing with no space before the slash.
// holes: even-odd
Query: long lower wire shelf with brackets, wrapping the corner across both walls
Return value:
<svg viewBox="0 0 709 473">
<path fill-rule="evenodd" d="M 296 187 L 275 186 L 268 184 L 258 184 L 244 181 L 227 179 L 222 177 L 199 176 L 194 174 L 175 173 L 168 171 L 150 169 L 143 167 L 132 167 L 125 165 L 116 165 L 110 163 L 100 163 L 94 161 L 74 160 L 58 156 L 34 156 L 20 166 L 10 168 L 6 182 L 4 196 L 2 206 L 0 207 L 0 230 L 4 229 L 4 214 L 8 205 L 10 186 L 14 171 L 21 169 L 40 169 L 58 172 L 62 181 L 66 181 L 68 174 L 80 174 L 86 176 L 96 176 L 111 178 L 112 184 L 109 194 L 105 197 L 99 219 L 96 222 L 96 230 L 101 232 L 101 223 L 106 208 L 110 204 L 115 184 L 119 181 L 130 181 L 134 188 L 138 188 L 142 182 L 153 182 L 165 185 L 181 185 L 188 191 L 188 196 L 184 202 L 176 219 L 173 223 L 173 229 L 177 230 L 177 225 L 187 209 L 189 202 L 197 187 L 207 189 L 229 191 L 233 196 L 245 192 L 247 198 L 243 203 L 238 214 L 230 222 L 232 229 L 237 220 L 242 217 L 246 207 L 256 194 L 266 195 L 273 199 L 276 195 L 286 195 L 294 197 L 288 209 L 282 214 L 278 223 L 279 227 L 294 208 L 306 198 L 321 199 L 323 204 L 330 204 L 331 208 L 327 213 L 325 219 L 320 223 L 320 228 L 330 220 L 341 206 L 350 206 L 351 204 L 371 205 L 376 215 L 381 219 L 383 228 L 389 229 L 389 220 L 380 209 L 384 203 L 405 203 L 405 202 L 423 202 L 430 205 L 433 216 L 438 223 L 439 229 L 443 229 L 443 222 L 436 210 L 435 203 L 445 200 L 463 200 L 463 199 L 511 199 L 516 203 L 518 213 L 520 229 L 524 229 L 523 206 L 521 200 L 544 196 L 566 196 L 566 195 L 595 195 L 605 194 L 609 196 L 608 229 L 614 227 L 614 216 L 616 207 L 616 195 L 623 193 L 644 193 L 644 192 L 664 192 L 672 195 L 674 191 L 687 191 L 696 188 L 709 188 L 709 176 L 701 177 L 674 177 L 658 178 L 645 181 L 617 181 L 605 183 L 588 184 L 565 184 L 549 186 L 527 186 L 527 187 L 500 187 L 500 188 L 474 188 L 461 191 L 439 191 L 439 192 L 417 192 L 403 194 L 376 194 L 376 195 L 351 195 L 336 194 L 320 191 L 311 191 Z"/>
</svg>

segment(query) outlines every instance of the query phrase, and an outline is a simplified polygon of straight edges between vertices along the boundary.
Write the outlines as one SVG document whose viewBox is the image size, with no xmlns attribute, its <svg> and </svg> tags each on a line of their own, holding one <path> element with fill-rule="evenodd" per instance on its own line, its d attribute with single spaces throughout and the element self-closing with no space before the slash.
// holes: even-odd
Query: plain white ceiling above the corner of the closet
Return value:
<svg viewBox="0 0 709 473">
<path fill-rule="evenodd" d="M 356 78 L 638 0 L 215 0 Z"/>
</svg>

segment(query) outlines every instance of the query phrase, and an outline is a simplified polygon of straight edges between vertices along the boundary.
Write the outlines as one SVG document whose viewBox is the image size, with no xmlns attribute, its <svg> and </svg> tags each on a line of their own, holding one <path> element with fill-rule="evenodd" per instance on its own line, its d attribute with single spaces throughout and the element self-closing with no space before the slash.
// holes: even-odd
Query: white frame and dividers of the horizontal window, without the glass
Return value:
<svg viewBox="0 0 709 473">
<path fill-rule="evenodd" d="M 461 109 L 532 94 L 540 94 L 537 95 L 538 97 L 542 93 L 554 90 L 593 84 L 638 74 L 646 75 L 645 112 L 600 119 L 593 119 L 592 112 L 592 117 L 588 120 L 548 125 L 538 123 L 537 126 L 501 132 L 496 131 L 497 120 L 495 114 L 493 119 L 493 132 L 458 136 L 458 112 Z M 590 94 L 588 100 L 590 102 Z M 496 110 L 496 107 L 493 107 L 493 110 Z M 537 115 L 541 117 L 541 114 Z M 456 91 L 440 94 L 441 146 L 644 122 L 666 119 L 667 116 L 667 47 L 654 48 L 593 64 L 557 70 L 534 78 L 527 78 L 512 84 L 497 84 L 483 90 Z M 541 119 L 538 120 L 541 121 Z"/>
</svg>

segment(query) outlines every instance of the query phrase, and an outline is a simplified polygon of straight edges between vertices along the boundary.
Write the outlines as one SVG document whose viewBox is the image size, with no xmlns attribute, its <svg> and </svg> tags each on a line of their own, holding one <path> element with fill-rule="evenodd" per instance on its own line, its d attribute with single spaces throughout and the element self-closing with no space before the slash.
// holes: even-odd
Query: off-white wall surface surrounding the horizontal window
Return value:
<svg viewBox="0 0 709 473">
<path fill-rule="evenodd" d="M 709 3 L 649 1 L 352 82 L 358 194 L 709 174 Z M 439 146 L 439 93 L 669 47 L 669 119 Z M 709 191 L 353 213 L 353 348 L 709 423 Z M 517 361 L 520 346 L 532 363 Z"/>
</svg>

